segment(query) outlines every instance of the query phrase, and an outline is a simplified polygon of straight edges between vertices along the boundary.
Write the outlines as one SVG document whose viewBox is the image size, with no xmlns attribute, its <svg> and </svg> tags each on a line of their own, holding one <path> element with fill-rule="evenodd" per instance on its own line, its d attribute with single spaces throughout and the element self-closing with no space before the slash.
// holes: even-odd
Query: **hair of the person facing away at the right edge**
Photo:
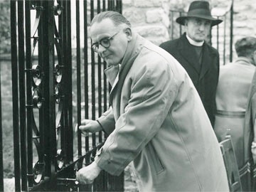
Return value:
<svg viewBox="0 0 256 192">
<path fill-rule="evenodd" d="M 256 50 L 256 38 L 245 37 L 235 43 L 235 51 L 238 57 L 250 57 Z"/>
</svg>

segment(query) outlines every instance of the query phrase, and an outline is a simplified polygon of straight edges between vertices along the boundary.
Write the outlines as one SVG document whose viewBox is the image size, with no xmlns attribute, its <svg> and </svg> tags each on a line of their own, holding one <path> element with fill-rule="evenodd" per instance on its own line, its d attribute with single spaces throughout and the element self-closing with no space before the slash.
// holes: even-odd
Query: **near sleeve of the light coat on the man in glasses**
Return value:
<svg viewBox="0 0 256 192">
<path fill-rule="evenodd" d="M 161 64 L 161 66 L 159 66 Z M 170 65 L 150 60 L 133 70 L 129 102 L 114 131 L 98 151 L 95 162 L 119 175 L 159 131 L 178 92 Z"/>
</svg>

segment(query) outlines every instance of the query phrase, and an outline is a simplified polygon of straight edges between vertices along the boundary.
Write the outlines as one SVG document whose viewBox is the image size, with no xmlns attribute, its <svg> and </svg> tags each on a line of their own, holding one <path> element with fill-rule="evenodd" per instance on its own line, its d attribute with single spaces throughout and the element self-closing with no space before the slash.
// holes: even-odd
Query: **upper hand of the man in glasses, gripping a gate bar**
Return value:
<svg viewBox="0 0 256 192">
<path fill-rule="evenodd" d="M 82 134 L 87 136 L 89 132 L 90 133 L 100 132 L 102 130 L 102 127 L 95 120 L 84 119 L 82 120 L 81 125 L 79 126 L 79 129 L 82 131 Z"/>
</svg>

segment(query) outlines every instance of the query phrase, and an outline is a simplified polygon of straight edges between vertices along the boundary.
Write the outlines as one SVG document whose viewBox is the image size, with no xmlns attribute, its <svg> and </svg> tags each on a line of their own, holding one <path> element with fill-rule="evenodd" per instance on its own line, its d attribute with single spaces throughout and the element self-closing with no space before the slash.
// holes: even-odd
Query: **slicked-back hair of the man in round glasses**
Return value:
<svg viewBox="0 0 256 192">
<path fill-rule="evenodd" d="M 100 23 L 105 18 L 110 18 L 115 26 L 120 26 L 121 24 L 127 24 L 127 26 L 131 27 L 131 23 L 125 18 L 122 14 L 119 14 L 117 11 L 104 11 L 100 14 L 97 14 L 91 22 L 91 26 L 93 23 Z"/>
</svg>

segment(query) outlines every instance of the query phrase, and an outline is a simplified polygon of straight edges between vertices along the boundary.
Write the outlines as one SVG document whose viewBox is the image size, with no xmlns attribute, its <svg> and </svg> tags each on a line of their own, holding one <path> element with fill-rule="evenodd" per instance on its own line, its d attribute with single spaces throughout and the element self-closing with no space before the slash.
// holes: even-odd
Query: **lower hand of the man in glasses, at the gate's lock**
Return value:
<svg viewBox="0 0 256 192">
<path fill-rule="evenodd" d="M 83 167 L 76 173 L 76 180 L 82 184 L 90 184 L 100 174 L 101 170 L 95 162 L 92 162 L 92 164 Z"/>
</svg>

